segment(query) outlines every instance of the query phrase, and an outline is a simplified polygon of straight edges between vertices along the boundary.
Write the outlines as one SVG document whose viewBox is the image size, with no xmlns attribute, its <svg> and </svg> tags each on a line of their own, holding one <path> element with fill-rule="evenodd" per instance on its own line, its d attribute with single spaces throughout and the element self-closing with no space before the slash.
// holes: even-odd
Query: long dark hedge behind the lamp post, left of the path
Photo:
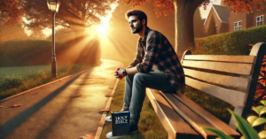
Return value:
<svg viewBox="0 0 266 139">
<path fill-rule="evenodd" d="M 75 45 L 74 42 L 56 42 L 57 64 L 97 65 L 100 59 L 98 40 Z M 52 42 L 9 41 L 0 42 L 0 66 L 51 65 Z"/>
</svg>

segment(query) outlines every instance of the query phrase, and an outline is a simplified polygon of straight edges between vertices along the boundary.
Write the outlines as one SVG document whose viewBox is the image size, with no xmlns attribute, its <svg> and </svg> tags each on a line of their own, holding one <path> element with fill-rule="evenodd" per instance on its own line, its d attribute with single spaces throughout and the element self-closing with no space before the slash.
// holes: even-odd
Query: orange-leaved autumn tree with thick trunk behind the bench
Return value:
<svg viewBox="0 0 266 139">
<path fill-rule="evenodd" d="M 141 6 L 149 0 L 123 0 L 126 4 Z M 231 7 L 232 12 L 252 12 L 252 8 L 262 9 L 262 0 L 223 0 L 223 3 Z M 158 16 L 168 16 L 175 13 L 176 45 L 175 50 L 180 55 L 184 49 L 194 47 L 193 15 L 197 7 L 206 6 L 210 0 L 154 0 L 154 11 Z"/>
</svg>

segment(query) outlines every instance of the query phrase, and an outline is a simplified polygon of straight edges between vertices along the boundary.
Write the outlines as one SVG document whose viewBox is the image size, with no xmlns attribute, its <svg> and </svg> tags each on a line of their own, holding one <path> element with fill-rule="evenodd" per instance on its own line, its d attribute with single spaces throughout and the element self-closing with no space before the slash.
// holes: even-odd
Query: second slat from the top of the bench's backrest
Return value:
<svg viewBox="0 0 266 139">
<path fill-rule="evenodd" d="M 201 69 L 215 70 L 225 73 L 251 74 L 253 64 L 224 63 L 211 61 L 184 60 L 182 66 L 196 67 Z"/>
</svg>

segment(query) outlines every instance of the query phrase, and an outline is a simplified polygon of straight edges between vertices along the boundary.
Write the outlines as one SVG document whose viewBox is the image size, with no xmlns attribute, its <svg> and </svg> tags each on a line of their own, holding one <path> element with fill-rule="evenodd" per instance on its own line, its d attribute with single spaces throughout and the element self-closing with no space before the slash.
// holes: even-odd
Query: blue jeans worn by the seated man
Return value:
<svg viewBox="0 0 266 139">
<path fill-rule="evenodd" d="M 145 88 L 158 89 L 164 93 L 176 92 L 176 88 L 167 81 L 165 73 L 136 73 L 126 76 L 124 108 L 129 108 L 130 122 L 137 124 L 145 100 Z"/>
</svg>

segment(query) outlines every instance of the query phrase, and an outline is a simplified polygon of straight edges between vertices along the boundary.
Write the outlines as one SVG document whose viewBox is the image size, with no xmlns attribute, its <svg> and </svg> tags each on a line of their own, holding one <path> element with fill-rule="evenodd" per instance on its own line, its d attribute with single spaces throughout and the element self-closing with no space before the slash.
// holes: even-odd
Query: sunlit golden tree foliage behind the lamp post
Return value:
<svg viewBox="0 0 266 139">
<path fill-rule="evenodd" d="M 60 1 L 59 12 L 56 13 L 55 24 L 71 28 L 75 38 L 82 38 L 85 28 L 100 22 L 99 16 L 105 16 L 111 10 L 115 0 L 63 0 Z M 45 1 L 25 1 L 24 10 L 32 30 L 51 27 L 52 13 Z"/>
</svg>

